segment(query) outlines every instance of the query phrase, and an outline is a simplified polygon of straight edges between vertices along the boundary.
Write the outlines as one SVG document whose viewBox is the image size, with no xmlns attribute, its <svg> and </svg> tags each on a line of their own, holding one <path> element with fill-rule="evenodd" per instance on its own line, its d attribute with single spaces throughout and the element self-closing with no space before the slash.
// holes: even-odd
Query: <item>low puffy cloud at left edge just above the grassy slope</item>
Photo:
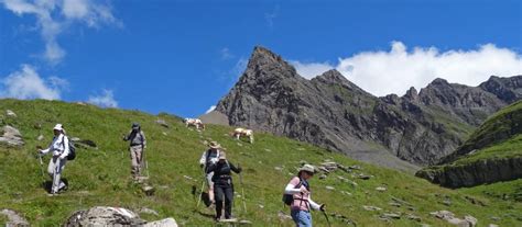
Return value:
<svg viewBox="0 0 522 227">
<path fill-rule="evenodd" d="M 68 82 L 57 77 L 45 80 L 30 65 L 22 65 L 19 71 L 1 79 L 3 98 L 58 100 Z"/>
</svg>

